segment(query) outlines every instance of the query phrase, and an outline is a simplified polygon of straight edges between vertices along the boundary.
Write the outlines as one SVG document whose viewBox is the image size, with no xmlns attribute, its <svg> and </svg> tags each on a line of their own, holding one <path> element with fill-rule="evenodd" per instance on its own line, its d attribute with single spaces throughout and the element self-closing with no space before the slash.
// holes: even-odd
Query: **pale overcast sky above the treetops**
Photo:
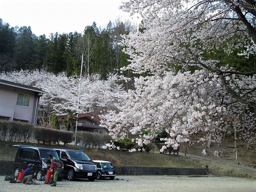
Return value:
<svg viewBox="0 0 256 192">
<path fill-rule="evenodd" d="M 120 17 L 139 23 L 136 16 L 119 10 L 126 0 L 1 0 L 0 18 L 10 26 L 30 26 L 36 36 L 58 32 L 83 32 L 95 21 L 106 27 Z M 133 19 L 132 19 L 133 18 Z"/>
</svg>

